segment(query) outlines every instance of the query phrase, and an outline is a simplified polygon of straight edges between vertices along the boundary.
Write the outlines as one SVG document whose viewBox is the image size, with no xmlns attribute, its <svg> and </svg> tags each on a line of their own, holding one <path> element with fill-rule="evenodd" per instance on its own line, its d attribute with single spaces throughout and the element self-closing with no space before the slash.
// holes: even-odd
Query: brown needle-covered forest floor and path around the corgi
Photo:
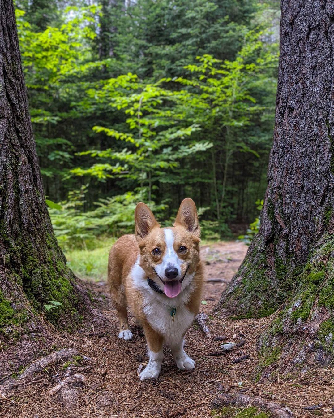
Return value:
<svg viewBox="0 0 334 418">
<path fill-rule="evenodd" d="M 203 246 L 207 278 L 230 281 L 246 251 L 247 247 L 241 242 Z M 205 285 L 200 311 L 210 318 L 207 325 L 211 336 L 205 336 L 196 322 L 187 332 L 185 350 L 195 360 L 195 370 L 178 370 L 169 349 L 165 349 L 161 374 L 156 382 L 139 382 L 137 376 L 138 368 L 147 361 L 143 331 L 137 329 L 134 318 L 130 318 L 134 339 L 130 342 L 118 339 L 116 311 L 110 304 L 105 283 L 91 283 L 91 287 L 105 299 L 104 314 L 111 327 L 108 330 L 79 330 L 75 334 L 53 330 L 57 349 L 74 348 L 78 357 L 37 374 L 33 382 L 13 390 L 11 400 L 0 397 L 1 417 L 271 416 L 250 405 L 215 410 L 213 402 L 221 392 L 231 396 L 240 393 L 259 396 L 287 405 L 296 417 L 334 415 L 333 370 L 311 370 L 303 377 L 278 375 L 275 382 L 255 382 L 259 363 L 256 341 L 272 318 L 229 320 L 213 317 L 212 310 L 226 288 L 225 283 L 208 282 Z M 221 342 L 214 340 L 217 336 L 225 336 L 225 342 L 245 340 L 245 344 L 222 356 L 211 357 L 208 353 L 220 350 Z M 233 360 L 243 355 L 249 357 L 233 364 Z M 62 391 L 66 385 L 59 385 L 58 391 L 51 389 L 73 373 L 80 375 L 81 380 L 75 384 L 74 404 L 69 408 L 73 393 L 68 396 Z M 317 408 L 313 411 L 304 409 L 314 406 Z"/>
</svg>

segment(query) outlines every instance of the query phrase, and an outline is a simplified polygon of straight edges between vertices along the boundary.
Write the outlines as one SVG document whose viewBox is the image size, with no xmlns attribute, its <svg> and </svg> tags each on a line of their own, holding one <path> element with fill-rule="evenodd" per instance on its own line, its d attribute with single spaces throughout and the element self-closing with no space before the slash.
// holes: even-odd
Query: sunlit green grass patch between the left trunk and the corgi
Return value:
<svg viewBox="0 0 334 418">
<path fill-rule="evenodd" d="M 116 238 L 99 238 L 94 250 L 68 250 L 65 255 L 68 267 L 82 279 L 105 281 L 108 255 Z"/>
</svg>

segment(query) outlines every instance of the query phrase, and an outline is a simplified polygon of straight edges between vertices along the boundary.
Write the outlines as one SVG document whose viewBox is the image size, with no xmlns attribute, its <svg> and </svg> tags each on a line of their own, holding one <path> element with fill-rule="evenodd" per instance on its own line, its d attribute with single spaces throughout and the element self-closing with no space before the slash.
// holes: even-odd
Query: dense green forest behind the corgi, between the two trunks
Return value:
<svg viewBox="0 0 334 418">
<path fill-rule="evenodd" d="M 190 196 L 204 238 L 245 230 L 266 190 L 279 1 L 18 0 L 43 184 L 66 250 L 169 221 Z"/>
</svg>

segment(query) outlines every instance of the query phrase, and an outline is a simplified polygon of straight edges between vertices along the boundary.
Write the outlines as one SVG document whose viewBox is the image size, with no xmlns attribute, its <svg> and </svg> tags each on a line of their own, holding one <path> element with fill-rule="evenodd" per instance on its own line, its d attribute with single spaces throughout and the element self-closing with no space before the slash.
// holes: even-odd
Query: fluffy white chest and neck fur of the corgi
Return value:
<svg viewBox="0 0 334 418">
<path fill-rule="evenodd" d="M 186 307 L 192 291 L 191 283 L 180 295 L 171 299 L 155 292 L 148 286 L 145 272 L 139 265 L 139 257 L 130 274 L 134 287 L 140 290 L 143 295 L 143 312 L 149 324 L 164 337 L 166 344 L 173 345 L 180 342 L 195 317 Z M 185 282 L 191 280 L 192 277 L 189 277 Z M 176 307 L 174 322 L 171 316 L 173 307 Z"/>
</svg>

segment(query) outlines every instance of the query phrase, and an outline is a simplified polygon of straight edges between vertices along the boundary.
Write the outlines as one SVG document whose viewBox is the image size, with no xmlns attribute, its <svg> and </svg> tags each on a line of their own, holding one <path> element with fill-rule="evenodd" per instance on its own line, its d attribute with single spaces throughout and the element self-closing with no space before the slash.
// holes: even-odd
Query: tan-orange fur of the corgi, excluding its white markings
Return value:
<svg viewBox="0 0 334 418">
<path fill-rule="evenodd" d="M 137 321 L 142 324 L 149 349 L 159 352 L 162 349 L 164 335 L 153 329 L 144 314 L 144 296 L 142 291 L 134 286 L 133 278 L 129 274 L 140 255 L 139 265 L 147 277 L 158 282 L 159 278 L 154 267 L 162 263 L 166 242 L 164 229 L 160 228 L 154 215 L 142 203 L 137 205 L 135 211 L 135 235 L 124 235 L 119 238 L 109 253 L 108 284 L 112 301 L 119 316 L 120 331 L 129 330 L 127 307 L 130 308 Z M 194 274 L 192 279 L 192 292 L 185 305 L 192 314 L 197 314 L 202 293 L 204 266 L 200 259 L 200 227 L 194 202 L 185 199 L 179 209 L 173 231 L 173 247 L 177 256 L 187 263 L 181 265 L 181 274 L 185 273 L 189 264 L 188 273 Z M 180 253 L 183 245 L 186 253 Z M 158 247 L 161 254 L 154 255 L 152 250 Z"/>
</svg>

